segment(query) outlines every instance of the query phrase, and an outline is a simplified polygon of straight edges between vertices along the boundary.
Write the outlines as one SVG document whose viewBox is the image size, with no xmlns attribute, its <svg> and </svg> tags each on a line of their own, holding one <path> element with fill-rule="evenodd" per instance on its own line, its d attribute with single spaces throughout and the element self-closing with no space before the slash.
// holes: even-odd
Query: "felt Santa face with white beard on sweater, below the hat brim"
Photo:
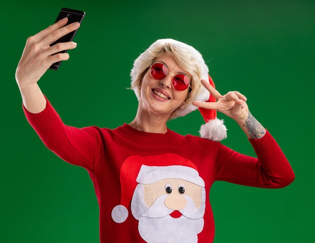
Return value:
<svg viewBox="0 0 315 243">
<path fill-rule="evenodd" d="M 140 183 L 131 201 L 139 233 L 147 242 L 197 242 L 204 210 L 204 187 L 181 179 Z"/>
</svg>

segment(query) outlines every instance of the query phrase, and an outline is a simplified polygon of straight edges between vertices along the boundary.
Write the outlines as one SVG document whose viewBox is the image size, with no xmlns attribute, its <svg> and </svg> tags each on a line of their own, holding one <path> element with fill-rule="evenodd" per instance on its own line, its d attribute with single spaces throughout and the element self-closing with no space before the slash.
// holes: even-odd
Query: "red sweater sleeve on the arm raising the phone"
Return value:
<svg viewBox="0 0 315 243">
<path fill-rule="evenodd" d="M 31 113 L 22 107 L 25 116 L 48 149 L 71 165 L 93 171 L 104 155 L 105 145 L 97 126 L 76 128 L 65 125 L 47 97 L 40 113 Z"/>
</svg>

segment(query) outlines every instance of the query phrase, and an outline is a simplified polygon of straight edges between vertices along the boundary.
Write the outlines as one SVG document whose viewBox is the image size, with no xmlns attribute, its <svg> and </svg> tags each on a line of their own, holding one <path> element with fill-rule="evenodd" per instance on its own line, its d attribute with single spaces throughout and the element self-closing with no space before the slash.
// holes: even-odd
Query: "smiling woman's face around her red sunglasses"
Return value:
<svg viewBox="0 0 315 243">
<path fill-rule="evenodd" d="M 191 80 L 192 76 L 183 70 L 176 62 L 174 56 L 164 52 L 162 56 L 157 57 L 155 62 L 164 62 L 169 72 L 176 75 L 179 72 L 186 73 Z M 150 74 L 150 69 L 145 73 L 142 79 L 139 108 L 155 114 L 162 114 L 169 117 L 174 110 L 183 104 L 188 95 L 189 89 L 185 91 L 178 91 L 172 87 L 173 75 L 169 73 L 163 79 L 163 85 L 161 80 L 154 79 Z M 157 93 L 159 92 L 159 93 Z M 161 98 L 159 94 L 164 94 L 164 98 Z"/>
</svg>

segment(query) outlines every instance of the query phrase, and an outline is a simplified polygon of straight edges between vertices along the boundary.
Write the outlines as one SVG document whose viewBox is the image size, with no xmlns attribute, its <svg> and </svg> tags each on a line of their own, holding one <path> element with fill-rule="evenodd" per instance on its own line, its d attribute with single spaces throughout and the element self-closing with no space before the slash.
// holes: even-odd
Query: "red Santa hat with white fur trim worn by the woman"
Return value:
<svg viewBox="0 0 315 243">
<path fill-rule="evenodd" d="M 177 47 L 180 50 L 187 51 L 191 55 L 195 57 L 195 60 L 200 66 L 201 69 L 201 79 L 204 79 L 210 83 L 210 85 L 215 88 L 214 83 L 210 75 L 208 74 L 209 69 L 208 66 L 206 65 L 205 61 L 203 60 L 202 55 L 200 54 L 199 51 L 197 51 L 194 47 L 177 41 L 173 39 L 160 39 L 155 41 L 153 44 L 150 45 L 150 47 L 144 51 L 140 56 L 134 61 L 133 63 L 133 68 L 131 69 L 131 85 L 135 83 L 136 75 L 139 66 L 141 63 L 146 60 L 147 56 L 149 54 L 149 50 L 155 46 L 155 45 L 165 45 L 166 43 L 171 43 L 173 46 Z M 201 80 L 200 80 L 201 82 Z M 134 92 L 139 100 L 139 88 L 136 87 L 134 89 Z M 201 91 L 199 94 L 196 94 L 195 97 L 191 100 L 191 102 L 184 108 L 180 109 L 177 112 L 175 112 L 170 119 L 175 119 L 177 117 L 182 117 L 187 115 L 188 113 L 197 110 L 198 107 L 194 106 L 192 102 L 194 101 L 202 101 L 202 102 L 216 102 L 216 99 L 209 93 L 209 91 L 202 86 Z M 223 124 L 223 120 L 220 120 L 216 117 L 216 110 L 209 110 L 205 108 L 198 108 L 201 115 L 203 116 L 206 124 L 202 125 L 200 127 L 200 136 L 202 138 L 210 139 L 213 141 L 221 141 L 222 139 L 225 139 L 227 137 L 226 135 L 226 127 Z"/>
</svg>

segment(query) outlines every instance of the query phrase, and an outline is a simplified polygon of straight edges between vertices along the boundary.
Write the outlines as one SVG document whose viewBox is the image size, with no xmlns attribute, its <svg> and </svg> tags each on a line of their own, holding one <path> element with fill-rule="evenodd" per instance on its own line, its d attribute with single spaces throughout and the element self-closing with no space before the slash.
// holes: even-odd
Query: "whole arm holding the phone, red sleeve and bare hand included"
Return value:
<svg viewBox="0 0 315 243">
<path fill-rule="evenodd" d="M 53 63 L 69 58 L 68 53 L 55 53 L 76 46 L 73 42 L 50 46 L 78 28 L 66 23 L 64 18 L 27 39 L 15 76 L 25 116 L 44 144 L 68 163 L 93 171 L 105 151 L 101 129 L 65 125 L 37 84 Z"/>
</svg>

